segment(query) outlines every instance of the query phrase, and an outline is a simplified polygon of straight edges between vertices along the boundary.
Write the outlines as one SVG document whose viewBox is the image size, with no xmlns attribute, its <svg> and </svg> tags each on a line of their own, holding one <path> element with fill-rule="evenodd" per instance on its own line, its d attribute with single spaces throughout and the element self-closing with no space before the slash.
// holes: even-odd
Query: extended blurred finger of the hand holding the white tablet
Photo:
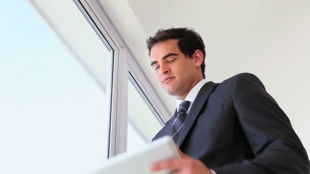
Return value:
<svg viewBox="0 0 310 174">
<path fill-rule="evenodd" d="M 182 163 L 183 163 L 182 159 L 172 158 L 152 164 L 150 166 L 150 170 L 158 171 L 168 169 L 171 171 L 178 171 L 184 166 Z"/>
</svg>

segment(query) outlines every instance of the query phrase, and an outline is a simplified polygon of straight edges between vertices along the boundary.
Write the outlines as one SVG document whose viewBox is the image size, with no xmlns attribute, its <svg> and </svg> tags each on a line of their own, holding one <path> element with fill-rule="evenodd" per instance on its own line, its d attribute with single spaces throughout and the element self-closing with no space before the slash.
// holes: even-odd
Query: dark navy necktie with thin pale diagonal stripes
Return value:
<svg viewBox="0 0 310 174">
<path fill-rule="evenodd" d="M 183 101 L 179 107 L 178 107 L 178 111 L 176 113 L 176 117 L 172 123 L 172 132 L 171 132 L 171 138 L 173 139 L 174 143 L 177 142 L 177 139 L 179 137 L 180 134 L 180 130 L 184 125 L 186 116 L 187 116 L 187 109 L 190 106 L 190 101 Z"/>
</svg>

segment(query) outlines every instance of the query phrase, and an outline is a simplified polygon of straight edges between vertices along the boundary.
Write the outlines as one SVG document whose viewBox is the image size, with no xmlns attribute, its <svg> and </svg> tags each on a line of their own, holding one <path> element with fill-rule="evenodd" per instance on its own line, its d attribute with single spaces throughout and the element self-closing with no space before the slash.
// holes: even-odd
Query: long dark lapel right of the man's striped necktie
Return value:
<svg viewBox="0 0 310 174">
<path fill-rule="evenodd" d="M 213 83 L 212 81 L 205 83 L 200 91 L 198 92 L 198 95 L 196 99 L 194 100 L 194 103 L 190 109 L 190 112 L 187 115 L 187 118 L 185 120 L 184 126 L 180 132 L 180 136 L 177 140 L 177 145 L 180 147 L 183 143 L 186 135 L 188 134 L 189 130 L 193 126 L 195 120 L 197 119 L 200 110 L 204 106 L 205 102 L 208 100 L 211 92 L 214 90 L 214 87 L 216 86 L 216 83 Z M 175 115 L 175 114 L 174 114 Z"/>
</svg>

